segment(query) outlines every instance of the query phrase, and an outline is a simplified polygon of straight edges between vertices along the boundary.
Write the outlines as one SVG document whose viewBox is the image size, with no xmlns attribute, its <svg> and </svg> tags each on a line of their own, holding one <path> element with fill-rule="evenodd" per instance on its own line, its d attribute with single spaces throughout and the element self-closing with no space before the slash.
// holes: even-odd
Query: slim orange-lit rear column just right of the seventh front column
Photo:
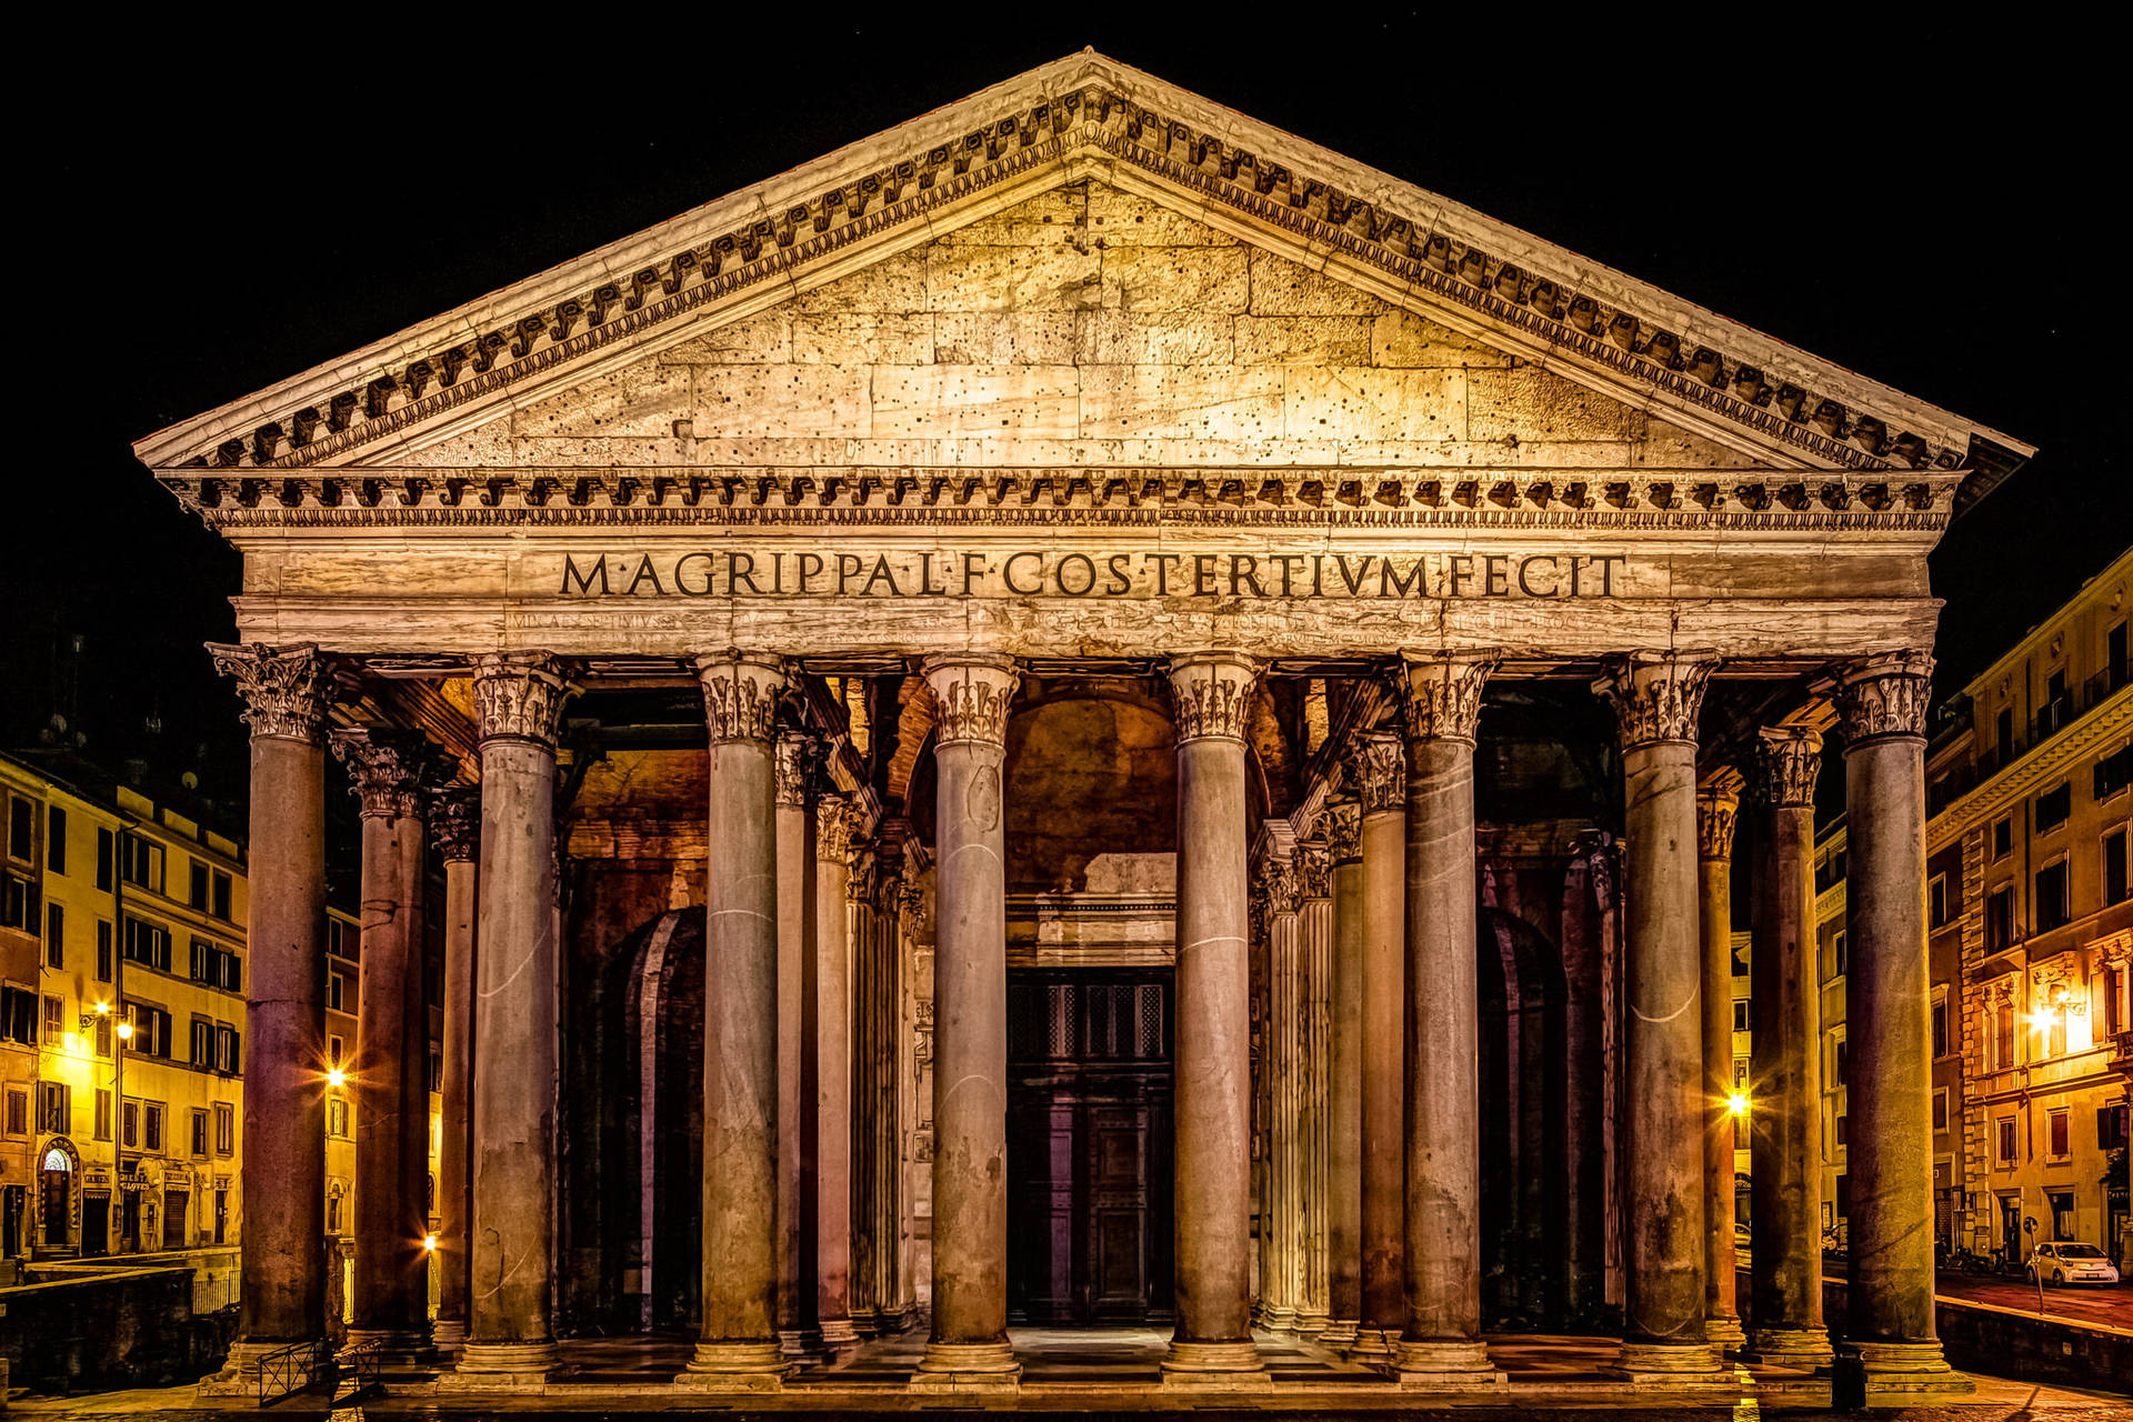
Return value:
<svg viewBox="0 0 2133 1422">
<path fill-rule="evenodd" d="M 1704 1339 L 1745 1343 L 1734 1307 L 1732 1115 L 1732 831 L 1741 776 L 1728 770 L 1696 793 L 1696 887 L 1704 944 Z"/>
</svg>

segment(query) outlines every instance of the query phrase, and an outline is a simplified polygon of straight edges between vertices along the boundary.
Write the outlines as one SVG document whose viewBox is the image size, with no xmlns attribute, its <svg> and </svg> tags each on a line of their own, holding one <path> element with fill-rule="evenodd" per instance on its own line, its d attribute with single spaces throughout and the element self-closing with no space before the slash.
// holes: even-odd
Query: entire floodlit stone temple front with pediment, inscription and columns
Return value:
<svg viewBox="0 0 2133 1422">
<path fill-rule="evenodd" d="M 335 759 L 352 1337 L 439 1388 L 680 1332 L 665 1386 L 759 1392 L 924 1328 L 909 1386 L 990 1394 L 1024 1322 L 1156 1324 L 1175 1388 L 1271 1388 L 1293 1335 L 1489 1394 L 1485 1332 L 1566 1330 L 1619 1337 L 1623 1388 L 1967 1386 L 1926 554 L 2020 441 L 1079 53 L 137 454 L 245 569 L 209 648 L 254 746 L 211 1390 L 324 1332 Z"/>
</svg>

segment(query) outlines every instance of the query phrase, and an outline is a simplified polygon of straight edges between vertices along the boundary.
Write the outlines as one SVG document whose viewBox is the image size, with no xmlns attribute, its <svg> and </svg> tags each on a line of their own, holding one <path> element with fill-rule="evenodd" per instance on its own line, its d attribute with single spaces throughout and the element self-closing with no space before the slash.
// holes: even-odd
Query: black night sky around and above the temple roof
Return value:
<svg viewBox="0 0 2133 1422">
<path fill-rule="evenodd" d="M 132 439 L 1084 45 L 2037 443 L 1935 556 L 1960 684 L 2133 542 L 2095 198 L 2120 81 L 2041 21 L 1753 9 L 1591 34 L 1502 6 L 111 17 L 49 51 L 73 122 L 17 139 L 17 230 L 49 249 L 13 288 L 41 448 L 9 473 L 0 744 L 58 708 L 87 755 L 237 789 L 198 650 L 237 559 Z"/>
</svg>

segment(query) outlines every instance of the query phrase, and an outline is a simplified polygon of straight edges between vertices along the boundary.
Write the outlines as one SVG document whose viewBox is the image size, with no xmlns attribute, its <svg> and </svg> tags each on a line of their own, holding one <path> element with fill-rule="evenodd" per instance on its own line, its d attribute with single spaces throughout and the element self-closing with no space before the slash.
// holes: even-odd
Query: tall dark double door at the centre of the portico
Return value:
<svg viewBox="0 0 2133 1422">
<path fill-rule="evenodd" d="M 1171 1318 L 1169 972 L 1009 979 L 1009 1318 Z"/>
</svg>

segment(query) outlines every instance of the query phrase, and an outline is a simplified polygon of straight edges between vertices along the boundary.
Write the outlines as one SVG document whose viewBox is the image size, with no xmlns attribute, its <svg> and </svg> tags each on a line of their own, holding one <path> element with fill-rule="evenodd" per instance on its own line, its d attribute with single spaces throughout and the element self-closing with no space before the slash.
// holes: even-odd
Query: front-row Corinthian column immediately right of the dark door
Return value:
<svg viewBox="0 0 2133 1422">
<path fill-rule="evenodd" d="M 1177 716 L 1177 1332 L 1165 1384 L 1256 1386 L 1244 731 L 1258 667 L 1171 659 Z"/>
</svg>

